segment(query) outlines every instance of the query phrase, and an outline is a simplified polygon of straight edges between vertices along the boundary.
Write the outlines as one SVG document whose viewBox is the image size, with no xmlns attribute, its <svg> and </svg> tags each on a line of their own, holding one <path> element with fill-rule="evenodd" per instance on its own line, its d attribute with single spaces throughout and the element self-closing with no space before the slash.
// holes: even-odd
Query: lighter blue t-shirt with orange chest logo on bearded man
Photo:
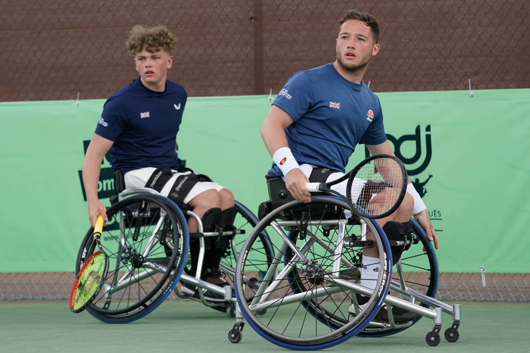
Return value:
<svg viewBox="0 0 530 353">
<path fill-rule="evenodd" d="M 294 120 L 285 135 L 298 164 L 345 173 L 358 143 L 386 141 L 379 98 L 364 82 L 342 77 L 332 63 L 289 77 L 272 104 Z M 276 164 L 269 174 L 282 175 Z"/>
</svg>

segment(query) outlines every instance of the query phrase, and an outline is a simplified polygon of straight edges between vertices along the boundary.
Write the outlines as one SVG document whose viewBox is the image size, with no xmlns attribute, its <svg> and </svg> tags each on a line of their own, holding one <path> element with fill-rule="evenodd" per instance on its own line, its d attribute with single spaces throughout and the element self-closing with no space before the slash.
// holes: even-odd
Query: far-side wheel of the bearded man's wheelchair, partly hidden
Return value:
<svg viewBox="0 0 530 353">
<path fill-rule="evenodd" d="M 410 296 L 396 292 L 395 289 L 400 287 L 400 279 L 407 285 L 408 288 L 422 294 L 428 295 L 432 298 L 436 296 L 438 289 L 438 260 L 436 252 L 432 243 L 427 239 L 425 231 L 421 226 L 411 219 L 412 227 L 414 229 L 414 243 L 409 250 L 404 251 L 401 255 L 402 270 L 392 271 L 392 286 L 390 287 L 390 295 L 400 297 L 402 299 L 409 299 Z M 422 248 L 425 247 L 425 251 Z M 418 303 L 420 306 L 429 307 L 427 304 Z M 421 319 L 412 321 L 415 324 Z M 410 327 L 410 326 L 409 326 Z M 383 337 L 391 334 L 401 332 L 409 327 L 392 329 L 390 326 L 386 328 L 370 328 L 369 325 L 361 331 L 357 336 L 359 337 Z"/>
</svg>

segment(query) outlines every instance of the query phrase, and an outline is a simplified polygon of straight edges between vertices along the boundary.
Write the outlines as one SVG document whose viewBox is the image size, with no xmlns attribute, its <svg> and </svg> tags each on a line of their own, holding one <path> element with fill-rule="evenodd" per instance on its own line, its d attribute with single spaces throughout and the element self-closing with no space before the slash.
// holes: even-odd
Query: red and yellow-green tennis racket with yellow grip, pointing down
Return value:
<svg viewBox="0 0 530 353">
<path fill-rule="evenodd" d="M 109 270 L 109 257 L 103 251 L 101 246 L 101 231 L 103 230 L 103 217 L 101 215 L 96 219 L 94 225 L 94 240 L 98 243 L 99 250 L 86 260 L 79 271 L 70 294 L 70 310 L 74 313 L 80 313 L 94 300 L 98 295 Z"/>
</svg>

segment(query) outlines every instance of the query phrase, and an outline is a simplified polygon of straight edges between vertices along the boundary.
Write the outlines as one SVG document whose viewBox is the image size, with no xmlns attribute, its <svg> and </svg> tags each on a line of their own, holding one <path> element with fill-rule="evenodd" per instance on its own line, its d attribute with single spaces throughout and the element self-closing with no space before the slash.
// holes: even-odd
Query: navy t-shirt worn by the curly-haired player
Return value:
<svg viewBox="0 0 530 353">
<path fill-rule="evenodd" d="M 164 92 L 155 92 L 139 78 L 110 97 L 95 133 L 114 141 L 112 168 L 127 173 L 145 167 L 183 167 L 175 143 L 187 97 L 179 84 L 166 81 Z"/>
</svg>

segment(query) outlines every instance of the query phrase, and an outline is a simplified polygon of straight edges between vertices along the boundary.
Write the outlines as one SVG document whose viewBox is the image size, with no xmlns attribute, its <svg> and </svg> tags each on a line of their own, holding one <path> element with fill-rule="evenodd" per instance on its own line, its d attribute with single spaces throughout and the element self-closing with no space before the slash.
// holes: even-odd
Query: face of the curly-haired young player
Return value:
<svg viewBox="0 0 530 353">
<path fill-rule="evenodd" d="M 136 70 L 142 78 L 142 82 L 147 86 L 165 85 L 167 69 L 173 64 L 173 57 L 164 50 L 150 53 L 142 50 L 135 55 Z"/>
</svg>

